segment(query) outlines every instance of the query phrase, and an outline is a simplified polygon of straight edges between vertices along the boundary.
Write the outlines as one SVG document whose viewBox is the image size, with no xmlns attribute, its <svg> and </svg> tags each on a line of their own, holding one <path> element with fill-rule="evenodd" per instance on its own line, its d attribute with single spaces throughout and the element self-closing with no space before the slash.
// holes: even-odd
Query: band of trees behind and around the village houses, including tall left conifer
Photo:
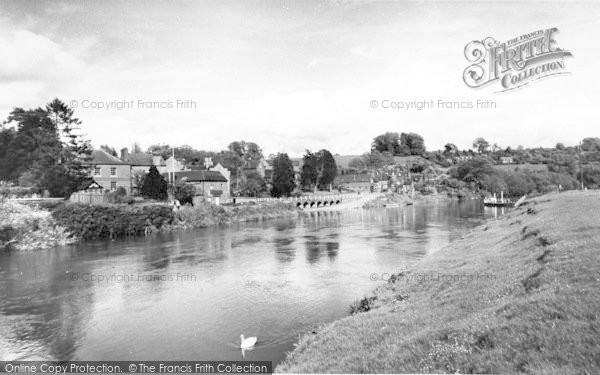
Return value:
<svg viewBox="0 0 600 375">
<path fill-rule="evenodd" d="M 59 99 L 52 100 L 45 107 L 13 109 L 0 128 L 0 181 L 47 190 L 52 196 L 68 196 L 90 174 L 88 162 L 92 147 L 82 135 L 81 127 L 82 123 L 75 117 L 73 109 Z M 419 134 L 386 132 L 373 138 L 370 151 L 350 161 L 349 169 L 357 173 L 377 171 L 395 165 L 395 157 L 422 156 L 424 160 L 442 167 L 453 167 L 448 173 L 449 178 L 455 180 L 454 183 L 493 189 L 533 186 L 534 182 L 527 176 L 515 177 L 514 173 L 507 171 L 491 172 L 490 166 L 499 164 L 503 157 L 510 157 L 519 165 L 546 165 L 550 174 L 544 178 L 548 183 L 556 182 L 570 187 L 575 181 L 589 187 L 600 187 L 600 138 L 585 138 L 580 146 L 568 147 L 558 143 L 553 148 L 527 149 L 519 146 L 512 149 L 502 148 L 478 137 L 472 146 L 472 149 L 460 150 L 456 145 L 447 143 L 442 150 L 428 151 Z M 110 145 L 101 145 L 100 148 L 119 156 Z M 190 167 L 222 164 L 232 172 L 231 188 L 237 195 L 286 196 L 301 191 L 328 190 L 333 187 L 340 173 L 335 158 L 326 149 L 315 152 L 306 150 L 301 168 L 298 165 L 294 168 L 294 163 L 286 153 L 270 155 L 268 159 L 272 164 L 272 176 L 264 178 L 256 167 L 265 160 L 265 156 L 255 142 L 234 141 L 221 151 L 197 150 L 189 145 L 172 148 L 167 144 L 153 144 L 145 151 L 138 143 L 131 147 L 131 152 L 146 152 L 165 159 L 173 151 L 177 159 Z M 421 173 L 427 165 L 414 161 L 409 168 L 413 173 Z M 151 178 L 146 179 L 148 175 Z M 158 171 L 133 178 L 145 191 L 143 195 L 165 196 L 164 183 L 160 181 Z M 524 180 L 527 181 L 523 183 Z M 149 181 L 154 181 L 156 186 L 143 188 L 144 184 L 150 184 Z M 160 193 L 149 193 L 152 189 Z M 191 192 L 185 186 L 175 189 L 188 195 Z"/>
</svg>

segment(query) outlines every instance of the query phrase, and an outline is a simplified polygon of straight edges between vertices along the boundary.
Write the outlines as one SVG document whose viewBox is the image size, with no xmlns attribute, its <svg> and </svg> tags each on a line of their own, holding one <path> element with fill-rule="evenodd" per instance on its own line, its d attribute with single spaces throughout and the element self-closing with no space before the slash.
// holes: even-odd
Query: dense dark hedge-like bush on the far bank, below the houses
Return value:
<svg viewBox="0 0 600 375">
<path fill-rule="evenodd" d="M 67 204 L 52 212 L 58 224 L 81 239 L 136 236 L 173 223 L 167 206 L 88 206 Z"/>
</svg>

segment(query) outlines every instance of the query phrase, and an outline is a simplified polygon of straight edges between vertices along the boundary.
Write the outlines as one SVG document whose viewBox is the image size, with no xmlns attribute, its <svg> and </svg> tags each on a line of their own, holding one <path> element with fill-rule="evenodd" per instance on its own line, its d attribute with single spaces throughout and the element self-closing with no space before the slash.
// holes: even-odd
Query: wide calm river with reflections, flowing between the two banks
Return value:
<svg viewBox="0 0 600 375">
<path fill-rule="evenodd" d="M 300 334 L 489 217 L 472 200 L 2 253 L 0 359 L 277 364 Z M 253 350 L 238 348 L 242 333 L 258 336 Z"/>
</svg>

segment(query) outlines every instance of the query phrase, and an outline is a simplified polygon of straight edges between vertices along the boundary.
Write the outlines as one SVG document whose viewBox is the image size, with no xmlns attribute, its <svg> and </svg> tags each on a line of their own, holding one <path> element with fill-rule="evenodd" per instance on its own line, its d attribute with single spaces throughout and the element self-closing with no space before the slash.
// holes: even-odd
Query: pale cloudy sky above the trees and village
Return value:
<svg viewBox="0 0 600 375">
<path fill-rule="evenodd" d="M 600 136 L 598 26 L 593 2 L 0 0 L 0 119 L 58 97 L 116 149 L 361 154 L 388 131 L 429 150 L 574 145 Z M 570 74 L 505 93 L 463 82 L 469 42 L 552 27 Z M 413 100 L 436 107 L 382 108 Z"/>
</svg>

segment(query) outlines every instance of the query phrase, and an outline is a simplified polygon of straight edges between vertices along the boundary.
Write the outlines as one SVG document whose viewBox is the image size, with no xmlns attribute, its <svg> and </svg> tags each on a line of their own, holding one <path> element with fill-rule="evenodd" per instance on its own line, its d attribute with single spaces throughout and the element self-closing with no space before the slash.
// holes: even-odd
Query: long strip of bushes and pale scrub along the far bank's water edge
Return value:
<svg viewBox="0 0 600 375">
<path fill-rule="evenodd" d="M 201 204 L 177 211 L 165 205 L 65 203 L 49 211 L 4 201 L 0 202 L 0 249 L 35 250 L 81 240 L 140 236 L 296 215 L 296 207 L 287 203 Z"/>
</svg>

